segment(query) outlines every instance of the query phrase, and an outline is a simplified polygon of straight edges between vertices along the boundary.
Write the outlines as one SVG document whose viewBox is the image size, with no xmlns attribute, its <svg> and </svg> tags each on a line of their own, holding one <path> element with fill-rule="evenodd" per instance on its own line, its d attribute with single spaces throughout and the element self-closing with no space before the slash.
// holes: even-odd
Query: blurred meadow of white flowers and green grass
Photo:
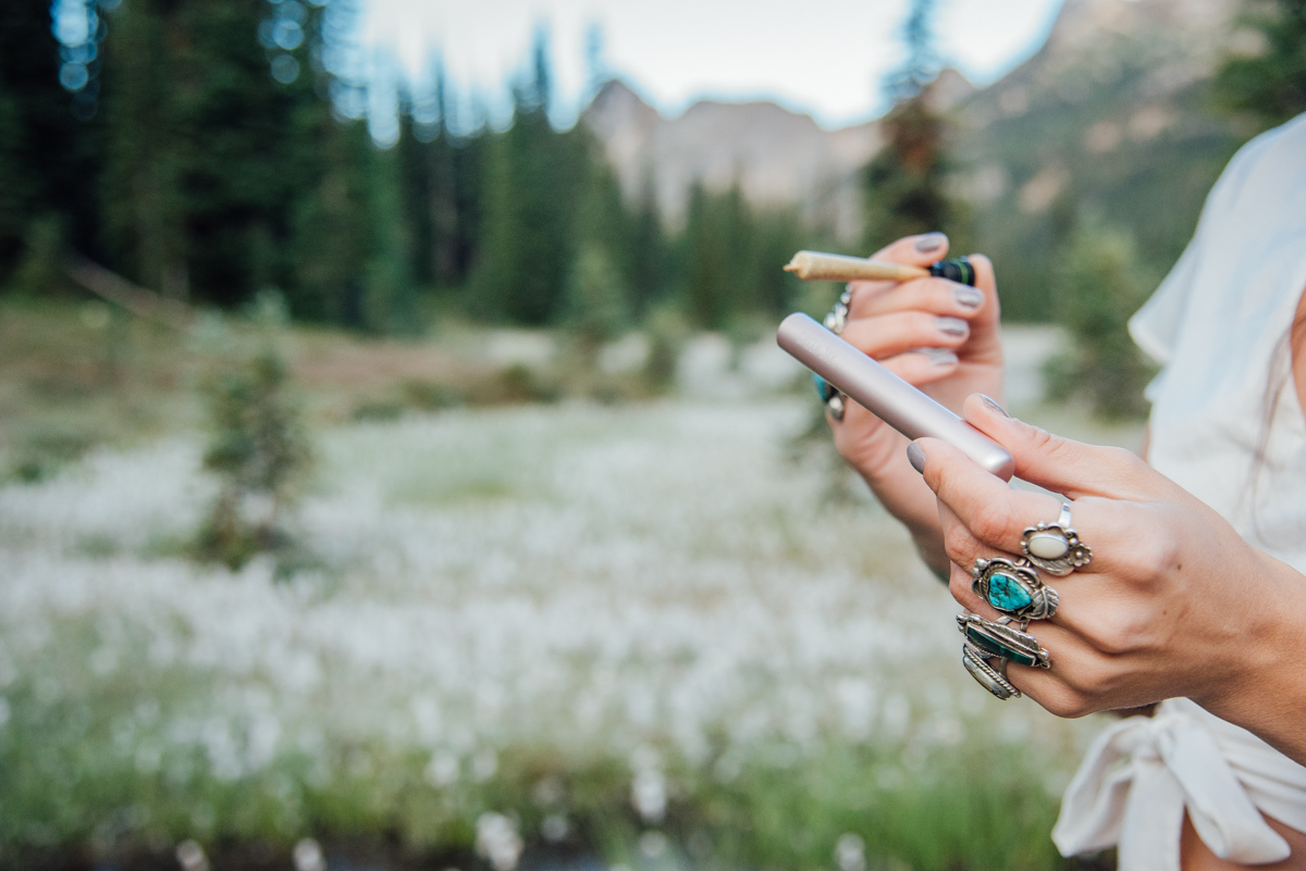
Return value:
<svg viewBox="0 0 1306 871">
<path fill-rule="evenodd" d="M 4 485 L 0 863 L 310 871 L 371 838 L 496 871 L 1054 867 L 1096 724 L 973 685 L 955 604 L 878 506 L 831 499 L 808 420 L 337 425 L 289 576 L 178 555 L 199 438 Z"/>
</svg>

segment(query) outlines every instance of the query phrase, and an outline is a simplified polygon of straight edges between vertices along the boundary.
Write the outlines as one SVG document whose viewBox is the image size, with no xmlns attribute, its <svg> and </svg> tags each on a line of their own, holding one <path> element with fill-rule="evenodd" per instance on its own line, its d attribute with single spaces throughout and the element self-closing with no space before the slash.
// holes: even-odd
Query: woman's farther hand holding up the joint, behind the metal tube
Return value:
<svg viewBox="0 0 1306 871">
<path fill-rule="evenodd" d="M 948 254 L 943 233 L 906 236 L 872 259 L 929 266 Z M 889 372 L 960 413 L 970 394 L 1003 400 L 1002 339 L 993 263 L 970 256 L 976 286 L 943 278 L 853 282 L 842 336 Z M 908 439 L 854 402 L 844 420 L 829 419 L 835 446 L 876 498 L 916 539 L 926 563 L 947 578 L 948 558 L 934 493 L 908 464 Z"/>
</svg>

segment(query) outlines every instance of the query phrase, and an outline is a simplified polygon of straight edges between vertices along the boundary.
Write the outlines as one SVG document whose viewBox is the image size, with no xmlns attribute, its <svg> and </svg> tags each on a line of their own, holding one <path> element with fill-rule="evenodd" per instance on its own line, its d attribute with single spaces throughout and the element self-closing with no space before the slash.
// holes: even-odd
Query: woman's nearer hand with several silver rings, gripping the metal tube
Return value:
<svg viewBox="0 0 1306 871">
<path fill-rule="evenodd" d="M 1060 604 L 1028 631 L 1051 669 L 1010 665 L 1008 679 L 1063 717 L 1187 696 L 1306 761 L 1306 578 L 1126 450 L 1051 436 L 982 396 L 964 412 L 1011 451 L 1017 477 L 1072 501 L 1093 552 L 1066 578 L 1042 575 Z M 1019 555 L 1024 529 L 1055 520 L 1060 499 L 1013 490 L 939 439 L 916 445 L 938 494 L 952 595 L 996 619 L 970 589 L 970 565 Z"/>
</svg>

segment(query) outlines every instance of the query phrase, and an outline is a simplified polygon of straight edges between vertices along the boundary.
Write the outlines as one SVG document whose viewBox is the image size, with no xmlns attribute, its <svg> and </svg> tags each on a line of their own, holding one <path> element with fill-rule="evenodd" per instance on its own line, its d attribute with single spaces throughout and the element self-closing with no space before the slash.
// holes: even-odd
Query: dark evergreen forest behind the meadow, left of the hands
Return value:
<svg viewBox="0 0 1306 871">
<path fill-rule="evenodd" d="M 68 3 L 63 3 L 68 5 Z M 52 12 L 54 26 L 52 26 Z M 584 125 L 550 124 L 541 33 L 504 129 L 454 132 L 436 73 L 368 134 L 355 0 L 50 0 L 0 10 L 0 288 L 89 258 L 221 308 L 413 334 L 432 312 L 603 338 L 674 305 L 693 326 L 776 314 L 798 222 L 695 190 L 669 232 Z M 72 18 L 72 23 L 69 23 Z M 81 21 L 85 18 L 85 21 Z"/>
</svg>

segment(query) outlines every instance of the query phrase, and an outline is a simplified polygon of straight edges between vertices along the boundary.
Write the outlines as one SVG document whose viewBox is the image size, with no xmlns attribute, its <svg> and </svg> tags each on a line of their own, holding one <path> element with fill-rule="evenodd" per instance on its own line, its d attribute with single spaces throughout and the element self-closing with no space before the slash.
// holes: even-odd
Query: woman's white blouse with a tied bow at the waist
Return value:
<svg viewBox="0 0 1306 871">
<path fill-rule="evenodd" d="M 1148 462 L 1306 572 L 1306 417 L 1288 347 L 1303 289 L 1306 115 L 1238 151 L 1183 257 L 1130 321 L 1164 366 L 1147 392 Z M 1121 871 L 1178 871 L 1185 810 L 1221 858 L 1285 859 L 1262 814 L 1306 832 L 1306 768 L 1170 699 L 1094 742 L 1053 840 L 1063 855 L 1118 846 Z"/>
</svg>

